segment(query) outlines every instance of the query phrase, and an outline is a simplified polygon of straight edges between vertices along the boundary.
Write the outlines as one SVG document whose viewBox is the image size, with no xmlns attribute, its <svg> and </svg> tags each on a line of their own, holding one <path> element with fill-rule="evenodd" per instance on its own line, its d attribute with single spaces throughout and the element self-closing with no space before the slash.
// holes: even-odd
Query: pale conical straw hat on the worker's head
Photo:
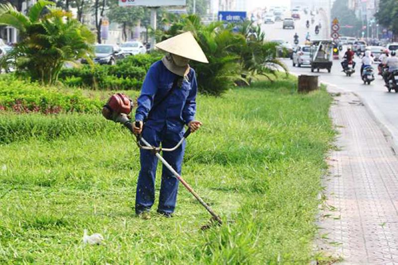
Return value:
<svg viewBox="0 0 398 265">
<path fill-rule="evenodd" d="M 206 56 L 190 31 L 159 42 L 156 48 L 200 63 L 208 63 Z"/>
</svg>

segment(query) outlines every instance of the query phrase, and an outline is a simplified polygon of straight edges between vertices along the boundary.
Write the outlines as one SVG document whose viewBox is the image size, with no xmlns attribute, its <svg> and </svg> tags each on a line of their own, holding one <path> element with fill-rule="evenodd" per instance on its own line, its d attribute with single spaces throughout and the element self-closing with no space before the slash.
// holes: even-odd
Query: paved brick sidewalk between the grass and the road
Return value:
<svg viewBox="0 0 398 265">
<path fill-rule="evenodd" d="M 329 244 L 321 247 L 343 264 L 398 264 L 398 158 L 358 97 L 341 92 L 334 99 L 339 150 L 323 180 L 319 226 Z"/>
</svg>

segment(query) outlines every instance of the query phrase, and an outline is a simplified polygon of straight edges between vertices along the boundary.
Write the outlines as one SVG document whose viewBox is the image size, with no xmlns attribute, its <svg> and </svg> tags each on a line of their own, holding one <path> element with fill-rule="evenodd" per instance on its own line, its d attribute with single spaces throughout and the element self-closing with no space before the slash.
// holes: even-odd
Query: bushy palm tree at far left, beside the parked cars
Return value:
<svg viewBox="0 0 398 265">
<path fill-rule="evenodd" d="M 21 41 L 10 53 L 19 74 L 28 74 L 42 84 L 53 84 L 66 62 L 87 57 L 95 35 L 70 12 L 38 0 L 27 15 L 11 4 L 0 5 L 0 24 L 17 28 Z M 7 58 L 9 59 L 9 58 Z"/>
</svg>

